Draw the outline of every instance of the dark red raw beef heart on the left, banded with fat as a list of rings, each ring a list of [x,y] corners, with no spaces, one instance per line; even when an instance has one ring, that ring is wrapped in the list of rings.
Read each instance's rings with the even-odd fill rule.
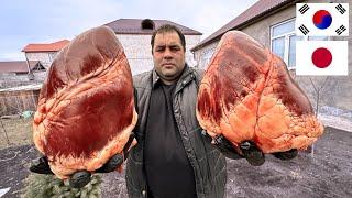
[[[113,31],[84,32],[61,51],[34,116],[34,143],[59,178],[121,153],[136,122],[132,75]]]

